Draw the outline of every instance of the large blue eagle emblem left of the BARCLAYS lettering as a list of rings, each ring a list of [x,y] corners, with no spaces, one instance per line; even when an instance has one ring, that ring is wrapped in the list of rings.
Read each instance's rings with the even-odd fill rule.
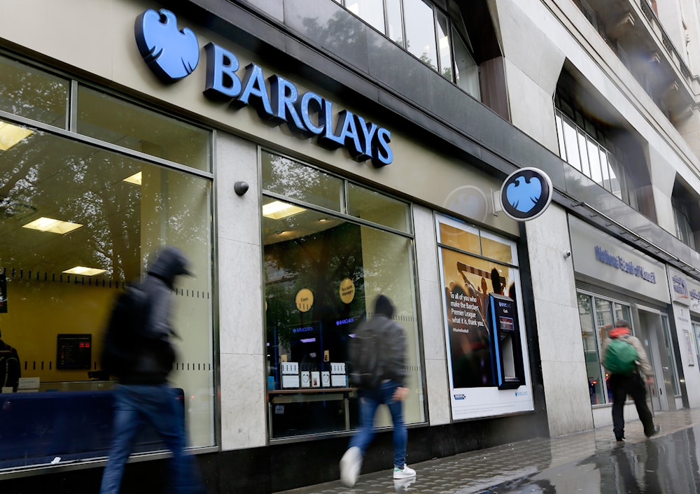
[[[153,73],[165,83],[174,83],[192,73],[200,61],[200,43],[186,27],[177,28],[177,17],[169,10],[146,10],[136,20],[136,43]]]

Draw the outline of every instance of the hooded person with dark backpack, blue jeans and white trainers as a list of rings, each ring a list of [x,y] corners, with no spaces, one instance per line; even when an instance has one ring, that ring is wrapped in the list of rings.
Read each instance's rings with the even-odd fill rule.
[[[406,335],[403,328],[395,323],[394,307],[388,297],[379,295],[374,302],[374,317],[356,331],[350,344],[351,377],[358,386],[360,404],[360,430],[350,440],[350,447],[340,460],[340,480],[347,487],[357,481],[362,459],[374,437],[374,414],[380,404],[386,404],[393,422],[393,478],[410,479],[416,471],[406,465],[406,445],[408,433],[403,421],[402,401],[408,395],[406,378]],[[370,342],[367,348],[362,342]],[[375,358],[366,359],[368,353]],[[374,367],[373,369],[361,367]],[[360,367],[360,368],[358,368]],[[371,377],[370,377],[371,376]],[[372,379],[372,377],[374,379]]]

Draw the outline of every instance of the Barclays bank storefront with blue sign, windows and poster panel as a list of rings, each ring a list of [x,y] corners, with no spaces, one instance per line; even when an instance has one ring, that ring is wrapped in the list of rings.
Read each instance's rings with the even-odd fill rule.
[[[0,488],[99,484],[104,323],[162,244],[196,274],[174,288],[172,384],[212,492],[332,479],[358,425],[347,344],[379,294],[407,335],[410,462],[546,433],[519,223],[542,210],[511,192],[504,211],[477,149],[197,2],[38,3],[0,20],[0,330],[22,360]],[[62,28],[32,27],[40,7]],[[125,489],[160,491],[166,466],[145,433]]]

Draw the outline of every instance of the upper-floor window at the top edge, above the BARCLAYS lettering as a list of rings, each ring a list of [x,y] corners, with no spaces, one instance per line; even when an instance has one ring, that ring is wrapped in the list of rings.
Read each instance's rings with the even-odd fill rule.
[[[459,8],[452,16],[426,0],[335,0],[444,78],[481,99],[479,67]],[[456,17],[455,17],[456,16]]]

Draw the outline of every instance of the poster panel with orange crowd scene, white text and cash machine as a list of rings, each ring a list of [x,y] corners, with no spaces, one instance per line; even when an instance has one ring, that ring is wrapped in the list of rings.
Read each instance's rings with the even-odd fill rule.
[[[515,244],[436,216],[454,420],[533,410]]]

